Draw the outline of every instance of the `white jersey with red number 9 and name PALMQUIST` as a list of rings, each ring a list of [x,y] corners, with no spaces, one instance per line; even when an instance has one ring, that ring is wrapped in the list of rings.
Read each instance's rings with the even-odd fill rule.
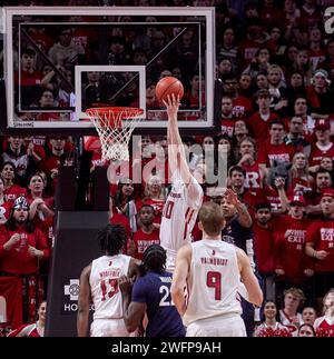
[[[185,326],[217,316],[239,316],[240,272],[235,246],[210,239],[190,246],[193,256]]]

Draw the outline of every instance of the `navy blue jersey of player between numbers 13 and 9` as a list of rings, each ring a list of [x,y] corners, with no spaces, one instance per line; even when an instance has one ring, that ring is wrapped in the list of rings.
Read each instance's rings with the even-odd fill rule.
[[[171,303],[171,273],[148,272],[136,280],[131,301],[146,303],[147,337],[185,337],[181,318]]]

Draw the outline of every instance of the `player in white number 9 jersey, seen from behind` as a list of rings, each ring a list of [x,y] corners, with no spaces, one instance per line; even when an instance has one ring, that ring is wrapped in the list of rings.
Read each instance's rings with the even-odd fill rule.
[[[261,306],[263,301],[247,255],[222,241],[224,226],[222,208],[214,202],[204,203],[198,223],[203,240],[184,246],[177,253],[171,299],[183,316],[187,337],[246,337],[238,298],[242,283],[249,302]]]

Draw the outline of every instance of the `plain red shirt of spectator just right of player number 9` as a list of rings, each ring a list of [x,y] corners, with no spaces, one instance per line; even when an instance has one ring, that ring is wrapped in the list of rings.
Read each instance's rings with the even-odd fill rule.
[[[264,228],[255,221],[253,223],[254,251],[257,268],[261,273],[274,272],[274,237],[272,225]]]

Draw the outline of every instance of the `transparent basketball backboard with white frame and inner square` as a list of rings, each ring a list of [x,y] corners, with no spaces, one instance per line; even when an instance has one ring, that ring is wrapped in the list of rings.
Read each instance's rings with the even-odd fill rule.
[[[185,87],[180,129],[215,129],[214,8],[3,9],[2,131],[92,134],[87,107],[126,106],[145,110],[137,132],[163,133],[164,76]]]

